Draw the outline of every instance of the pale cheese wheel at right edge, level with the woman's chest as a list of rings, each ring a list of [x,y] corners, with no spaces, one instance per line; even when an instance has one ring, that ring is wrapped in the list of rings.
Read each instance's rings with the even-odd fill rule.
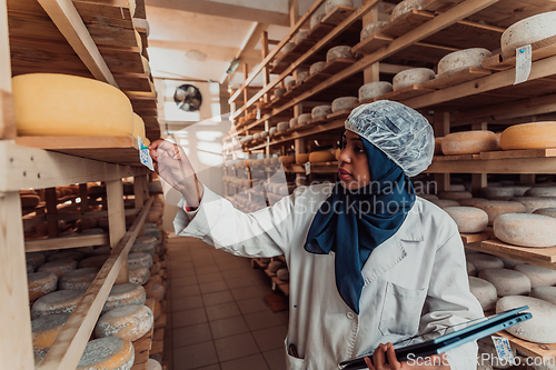
[[[499,240],[519,247],[556,246],[556,219],[543,214],[506,213],[494,221]]]

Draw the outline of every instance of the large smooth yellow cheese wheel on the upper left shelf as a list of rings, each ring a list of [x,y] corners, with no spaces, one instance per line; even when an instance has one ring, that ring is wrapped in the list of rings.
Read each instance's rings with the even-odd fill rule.
[[[40,91],[40,99],[36,99]],[[19,136],[130,136],[131,102],[118,88],[93,79],[19,74],[12,79]]]

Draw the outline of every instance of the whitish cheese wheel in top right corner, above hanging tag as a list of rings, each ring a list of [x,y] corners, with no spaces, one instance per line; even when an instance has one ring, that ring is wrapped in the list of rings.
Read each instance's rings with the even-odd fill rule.
[[[522,19],[504,31],[500,39],[504,58],[516,56],[516,49],[556,36],[556,11]]]

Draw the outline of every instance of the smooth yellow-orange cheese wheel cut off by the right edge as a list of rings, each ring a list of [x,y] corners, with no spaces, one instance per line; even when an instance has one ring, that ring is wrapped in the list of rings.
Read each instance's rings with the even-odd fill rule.
[[[556,122],[522,123],[502,133],[504,150],[556,148]]]

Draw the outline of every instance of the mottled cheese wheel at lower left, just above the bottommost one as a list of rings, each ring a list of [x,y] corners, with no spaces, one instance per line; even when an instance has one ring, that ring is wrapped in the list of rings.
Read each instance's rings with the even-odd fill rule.
[[[145,336],[152,328],[152,311],[145,304],[118,307],[99,318],[95,326],[95,336],[135,341]]]

